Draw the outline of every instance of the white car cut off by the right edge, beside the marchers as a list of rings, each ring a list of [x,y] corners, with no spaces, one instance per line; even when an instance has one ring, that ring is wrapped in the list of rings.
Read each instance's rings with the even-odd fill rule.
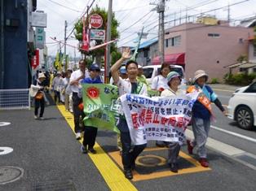
[[[253,129],[256,125],[256,81],[236,89],[227,106],[229,119],[236,120],[239,127]]]

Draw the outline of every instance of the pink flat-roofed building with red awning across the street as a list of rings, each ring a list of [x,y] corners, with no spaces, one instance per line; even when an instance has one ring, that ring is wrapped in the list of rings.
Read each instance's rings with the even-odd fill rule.
[[[227,24],[181,24],[166,29],[165,60],[167,63],[179,60],[178,64],[185,68],[187,80],[196,70],[202,69],[210,79],[222,81],[229,72],[224,67],[237,63],[236,59],[241,54],[248,53],[248,38],[253,34],[253,28],[230,27]],[[152,59],[152,64],[157,63],[157,58]]]

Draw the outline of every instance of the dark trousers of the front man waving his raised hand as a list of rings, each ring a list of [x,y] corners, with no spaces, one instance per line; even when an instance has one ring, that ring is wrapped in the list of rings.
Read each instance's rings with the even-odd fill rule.
[[[139,154],[145,149],[147,144],[135,145],[131,150],[130,132],[120,132],[122,154],[121,162],[124,166],[124,170],[130,170],[132,166],[135,166],[135,160]]]

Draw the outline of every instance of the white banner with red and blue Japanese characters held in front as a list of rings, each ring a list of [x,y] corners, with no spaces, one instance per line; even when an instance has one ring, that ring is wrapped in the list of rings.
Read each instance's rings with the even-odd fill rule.
[[[137,94],[122,95],[121,106],[133,144],[141,145],[148,140],[182,143],[197,96],[196,92],[184,96],[152,98]],[[141,133],[143,135],[139,135]]]

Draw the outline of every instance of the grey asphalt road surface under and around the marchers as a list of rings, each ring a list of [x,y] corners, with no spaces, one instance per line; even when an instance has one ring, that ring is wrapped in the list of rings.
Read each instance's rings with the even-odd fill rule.
[[[222,95],[228,96],[226,93],[218,93],[219,98]],[[221,98],[223,104],[226,102],[224,99],[225,97]],[[236,127],[219,111],[215,111],[215,114],[218,120],[213,124],[214,126],[255,138],[256,132],[248,132]],[[214,150],[209,150],[210,169],[207,171],[196,167],[189,160],[189,158],[197,159],[196,154],[188,158],[182,156],[179,158],[178,174],[171,174],[166,164],[157,167],[138,165],[136,171],[139,176],[146,175],[151,178],[132,180],[130,184],[135,189],[123,189],[124,183],[121,179],[109,180],[114,171],[111,169],[105,173],[99,171],[99,163],[105,167],[111,166],[110,163],[101,160],[103,153],[99,152],[93,157],[81,153],[81,143],[75,140],[72,129],[56,106],[46,107],[45,118],[46,120],[43,121],[33,119],[33,110],[0,111],[0,122],[11,122],[10,125],[0,126],[0,181],[2,167],[24,169],[24,175],[19,180],[8,184],[0,183],[1,191],[57,190],[56,188],[101,191],[110,190],[111,184],[116,186],[113,190],[255,190],[256,171],[253,168]],[[250,141],[213,128],[210,131],[210,137],[256,154],[255,144]],[[97,142],[109,158],[111,153],[117,151],[114,132],[99,130]],[[148,147],[153,146],[154,141],[150,141]],[[2,154],[1,147],[11,147],[13,151]],[[99,147],[95,149],[99,151]],[[183,145],[182,151],[188,154],[186,145]],[[142,157],[148,154],[166,158],[167,150],[145,150]],[[118,158],[120,156],[111,158],[111,163],[121,171],[117,163]],[[182,173],[186,170],[189,170],[188,173]],[[169,173],[168,176],[152,176],[162,171]]]

